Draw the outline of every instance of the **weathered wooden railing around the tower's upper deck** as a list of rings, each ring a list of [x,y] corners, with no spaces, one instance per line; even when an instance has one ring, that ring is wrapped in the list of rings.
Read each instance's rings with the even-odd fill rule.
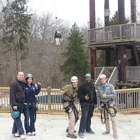
[[[88,30],[89,43],[110,43],[140,39],[140,24],[121,24]]]

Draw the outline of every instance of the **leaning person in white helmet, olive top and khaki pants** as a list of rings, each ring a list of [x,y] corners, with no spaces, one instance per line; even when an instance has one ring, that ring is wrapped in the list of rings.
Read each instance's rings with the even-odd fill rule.
[[[66,129],[66,132],[68,132],[67,137],[74,139],[77,138],[77,136],[74,134],[74,132],[76,132],[74,130],[74,127],[79,119],[78,111],[75,106],[75,101],[77,100],[78,97],[77,86],[78,86],[78,78],[76,76],[72,76],[71,84],[66,85],[60,91],[60,94],[63,94],[63,106],[69,118],[69,126]]]

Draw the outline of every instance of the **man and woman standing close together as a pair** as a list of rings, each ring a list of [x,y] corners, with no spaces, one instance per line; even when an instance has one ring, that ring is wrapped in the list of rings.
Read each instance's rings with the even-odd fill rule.
[[[17,78],[10,85],[11,114],[14,119],[12,134],[15,137],[25,139],[24,129],[21,121],[21,113],[24,114],[24,128],[26,134],[35,136],[36,120],[36,97],[41,90],[41,84],[33,84],[33,75],[18,72]]]

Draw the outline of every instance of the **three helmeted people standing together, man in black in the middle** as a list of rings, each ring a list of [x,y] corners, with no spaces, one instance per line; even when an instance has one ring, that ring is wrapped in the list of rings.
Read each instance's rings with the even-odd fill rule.
[[[93,116],[94,109],[98,106],[98,109],[103,115],[103,123],[105,123],[106,126],[106,131],[103,132],[102,135],[110,134],[110,115],[113,137],[114,139],[118,139],[115,120],[115,90],[112,84],[107,83],[105,74],[100,75],[100,82],[101,85],[98,86],[97,95],[90,73],[85,75],[85,81],[79,87],[78,78],[73,76],[71,77],[71,84],[66,85],[61,89],[60,94],[63,94],[63,107],[69,118],[69,126],[66,129],[66,132],[68,133],[67,137],[74,139],[77,138],[74,134],[76,132],[74,127],[79,117],[75,102],[79,99],[81,106],[81,120],[78,131],[79,137],[84,138],[84,133],[95,134],[95,132],[91,129],[91,118]]]

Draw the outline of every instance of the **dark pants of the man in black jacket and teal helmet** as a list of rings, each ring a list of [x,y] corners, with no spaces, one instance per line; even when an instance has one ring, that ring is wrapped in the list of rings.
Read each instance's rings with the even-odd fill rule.
[[[82,117],[80,120],[79,133],[91,131],[91,118],[93,116],[94,106],[87,103],[80,103],[82,109]]]

